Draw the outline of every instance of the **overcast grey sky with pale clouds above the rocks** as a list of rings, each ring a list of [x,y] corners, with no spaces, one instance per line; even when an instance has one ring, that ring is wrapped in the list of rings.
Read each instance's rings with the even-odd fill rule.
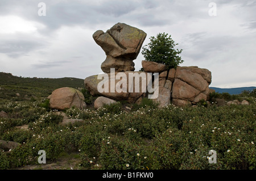
[[[39,2],[46,16],[39,16]],[[217,16],[210,16],[216,3]],[[39,11],[42,12],[42,11]],[[97,30],[126,23],[159,32],[183,49],[180,66],[212,72],[210,86],[256,86],[256,1],[0,1],[0,71],[22,77],[86,78],[101,73],[104,50],[93,40]],[[141,52],[135,70],[144,60]]]

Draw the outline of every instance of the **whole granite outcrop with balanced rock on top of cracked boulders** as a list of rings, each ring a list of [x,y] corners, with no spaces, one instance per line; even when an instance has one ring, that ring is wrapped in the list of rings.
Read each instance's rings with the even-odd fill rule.
[[[93,34],[93,39],[106,53],[106,60],[101,64],[101,69],[106,74],[85,78],[85,87],[91,95],[100,95],[113,100],[127,100],[129,103],[140,103],[142,98],[152,95],[149,90],[154,90],[158,91],[158,94],[150,98],[159,103],[159,107],[167,106],[171,102],[176,106],[184,106],[197,104],[201,99],[209,99],[209,94],[213,91],[209,89],[212,74],[207,69],[197,66],[178,66],[176,69],[167,70],[167,65],[142,61],[144,71],[134,71],[133,60],[138,56],[145,38],[146,33],[142,30],[124,23],[117,23],[106,32],[98,30]],[[113,70],[111,68],[115,70],[114,73],[111,73]],[[122,75],[119,74],[121,71]],[[141,77],[139,81],[134,81],[136,76],[129,79],[131,73],[137,74],[137,78]],[[150,79],[147,75],[152,73],[154,73],[154,77]],[[158,83],[156,82],[157,76]],[[98,77],[100,78],[98,79]],[[151,82],[152,80],[155,82]],[[148,90],[149,82],[152,83],[152,87]],[[119,87],[119,91],[117,87]],[[139,87],[139,89],[136,91],[135,87]],[[100,102],[101,99],[99,98],[94,103],[96,108],[104,104]]]

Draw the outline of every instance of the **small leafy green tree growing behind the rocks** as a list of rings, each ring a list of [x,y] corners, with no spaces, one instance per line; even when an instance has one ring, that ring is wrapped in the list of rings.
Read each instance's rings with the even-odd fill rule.
[[[168,33],[158,33],[156,37],[150,37],[150,43],[142,47],[142,54],[147,61],[154,61],[168,66],[168,69],[176,68],[183,62],[179,54],[182,49],[175,49],[174,40]]]

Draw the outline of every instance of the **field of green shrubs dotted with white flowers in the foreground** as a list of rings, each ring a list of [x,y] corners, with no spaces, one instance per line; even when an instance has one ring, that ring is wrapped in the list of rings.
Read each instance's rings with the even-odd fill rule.
[[[4,150],[0,169],[39,164],[63,153],[79,154],[79,169],[256,169],[256,104],[126,110],[121,103],[98,110],[65,111],[76,123],[60,124],[63,116],[42,101],[5,102],[0,111],[0,140],[20,145]],[[28,125],[27,129],[19,126]],[[209,150],[217,163],[209,163]]]

